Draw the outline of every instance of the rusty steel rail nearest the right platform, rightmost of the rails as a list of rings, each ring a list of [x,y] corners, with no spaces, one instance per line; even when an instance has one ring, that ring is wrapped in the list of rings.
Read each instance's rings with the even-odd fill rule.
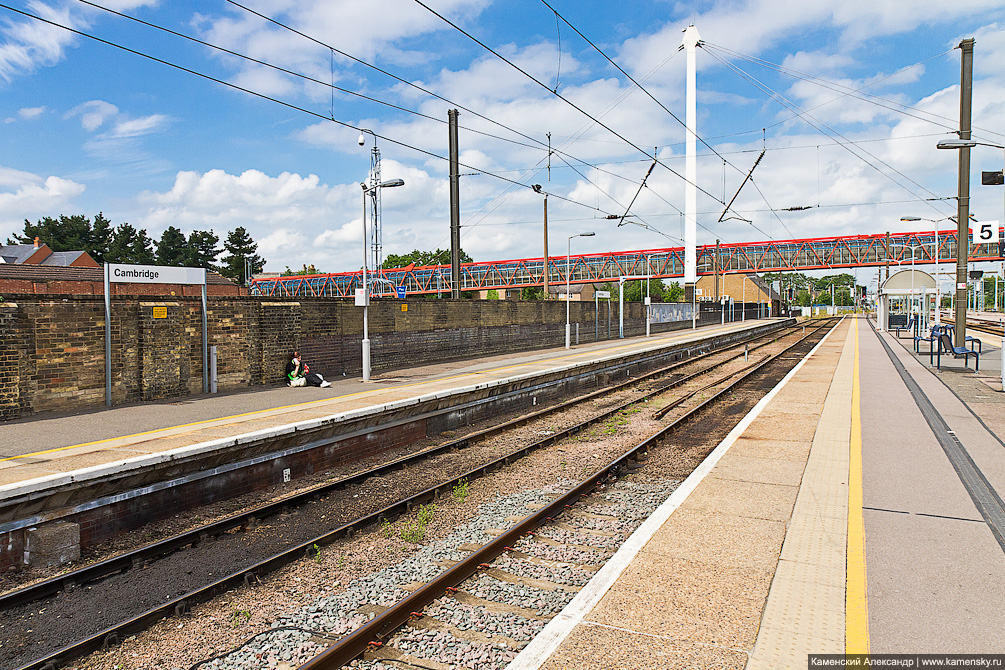
[[[830,322],[828,325],[833,327],[834,323]],[[616,475],[617,471],[623,465],[626,465],[627,461],[638,460],[640,457],[647,454],[650,446],[656,445],[674,430],[694,419],[701,412],[701,410],[709,407],[724,394],[733,391],[737,386],[750,379],[751,376],[765,367],[768,363],[781,358],[792,349],[801,345],[807,339],[812,338],[822,327],[827,326],[824,325],[820,328],[815,328],[812,332],[800,338],[795,344],[785,348],[782,352],[779,352],[771,357],[766,357],[765,360],[760,363],[749,367],[746,371],[744,371],[743,375],[739,379],[716,392],[708,399],[701,401],[701,403],[691,408],[669,425],[661,428],[659,431],[649,436],[638,445],[624,452],[621,456],[594,472],[590,475],[590,477],[581,481],[568,492],[559,496],[538,511],[525,517],[512,528],[497,535],[494,539],[486,542],[480,549],[472,551],[470,555],[463,561],[458,562],[453,567],[444,571],[430,582],[412,592],[403,600],[399,601],[395,605],[392,605],[387,610],[377,615],[369,623],[358,628],[353,633],[349,634],[318,656],[301,665],[299,670],[337,670],[365,652],[371,643],[383,642],[388,639],[394,631],[409,621],[409,619],[413,616],[413,613],[421,611],[437,598],[440,598],[444,593],[448,593],[446,591],[447,588],[455,588],[457,585],[461,584],[464,580],[475,574],[481,566],[486,565],[488,562],[506,551],[529,531],[544,524],[550,518],[558,516],[566,509],[567,506],[589,494],[594,488],[610,478],[612,474]]]

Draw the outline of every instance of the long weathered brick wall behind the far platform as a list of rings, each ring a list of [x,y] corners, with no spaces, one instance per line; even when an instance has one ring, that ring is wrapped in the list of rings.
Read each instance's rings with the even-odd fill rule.
[[[407,310],[402,307],[407,306]],[[718,305],[702,322],[718,322]],[[155,308],[166,310],[155,318]],[[375,372],[531,349],[562,347],[560,301],[374,300],[369,309]],[[161,309],[158,309],[161,311]],[[713,313],[714,312],[714,313]],[[361,371],[363,310],[332,299],[210,296],[209,345],[220,390],[275,385],[298,349],[327,377]],[[600,309],[607,336],[606,306]],[[580,342],[594,339],[594,303],[573,302]],[[688,322],[653,324],[653,331]],[[617,337],[617,307],[612,336]],[[625,305],[625,334],[645,331],[640,303]],[[202,312],[195,296],[153,301],[116,296],[112,399],[121,404],[202,392]],[[0,419],[72,411],[105,402],[105,303],[99,295],[21,295],[0,303]]]

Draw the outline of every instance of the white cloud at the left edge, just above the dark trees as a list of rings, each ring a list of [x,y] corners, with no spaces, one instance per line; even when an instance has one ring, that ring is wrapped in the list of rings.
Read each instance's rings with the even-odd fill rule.
[[[0,236],[21,230],[24,219],[55,216],[83,193],[83,184],[0,167]]]

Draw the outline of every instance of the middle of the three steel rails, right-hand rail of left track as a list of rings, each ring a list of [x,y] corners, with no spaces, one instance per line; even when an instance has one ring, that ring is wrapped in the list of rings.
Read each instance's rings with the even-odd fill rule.
[[[804,342],[807,338],[812,337],[812,334],[814,334],[815,332],[817,332],[822,327],[826,327],[826,326],[825,325],[821,325],[820,327],[814,329],[810,334],[804,336],[803,338],[801,338],[800,340],[798,340],[796,343],[794,343],[790,347],[788,347],[785,350],[783,350],[782,352],[780,352],[774,358],[778,358],[779,356],[783,355],[785,352],[788,352],[791,349],[793,349],[794,347],[797,347],[800,343]],[[773,334],[773,333],[769,333],[769,334]],[[776,334],[775,339],[777,340],[777,334]],[[770,343],[766,343],[764,345],[760,345],[759,347],[767,346],[767,344],[770,344]],[[725,350],[718,350],[717,352],[709,352],[706,355],[701,355],[701,356],[705,357],[705,356],[708,356],[708,355],[711,355],[711,354],[714,354],[714,353],[723,353],[724,351],[729,351],[729,349],[732,349],[732,348],[726,348]],[[761,363],[761,366],[767,364],[771,360],[774,360],[774,358],[772,358],[772,359],[765,359]],[[696,359],[697,359],[697,357],[695,357],[693,359],[690,359],[688,361],[678,362],[677,364],[674,364],[673,366],[670,366],[669,368],[675,368],[675,367],[679,367],[679,365],[683,365],[683,364],[686,364],[686,363],[692,363]],[[711,371],[713,369],[715,369],[715,367],[710,367],[710,368],[707,369],[707,371]],[[751,374],[753,374],[754,372],[755,372],[754,370],[749,371],[748,372],[748,376],[751,375]],[[664,374],[665,374],[665,372],[664,372]],[[647,374],[645,377],[651,377],[651,376],[652,376],[652,374],[650,373],[650,374]],[[637,384],[640,380],[642,380],[642,376],[640,376],[636,380],[633,380],[632,383],[636,383]],[[627,385],[627,383],[623,384],[622,387],[619,387],[619,388],[623,388],[625,385]],[[94,651],[97,651],[99,649],[106,649],[106,648],[108,648],[108,647],[110,647],[110,646],[112,646],[114,644],[117,644],[119,641],[121,641],[125,637],[128,637],[129,635],[132,635],[132,634],[135,634],[135,633],[139,633],[139,632],[141,632],[141,631],[149,628],[151,625],[157,623],[158,621],[160,621],[161,619],[164,619],[167,616],[170,616],[171,614],[175,614],[175,615],[178,615],[178,616],[183,615],[185,612],[188,611],[188,609],[192,605],[205,602],[205,601],[213,598],[217,594],[224,593],[226,591],[229,591],[229,590],[231,590],[231,589],[233,589],[235,587],[241,586],[241,585],[251,585],[251,584],[254,584],[255,582],[259,581],[259,579],[260,579],[261,576],[263,576],[263,575],[265,575],[267,573],[271,573],[271,572],[273,572],[275,570],[278,570],[279,568],[282,568],[282,567],[284,567],[284,566],[292,563],[293,561],[296,561],[297,559],[300,559],[300,557],[304,557],[304,556],[314,555],[315,552],[317,551],[317,548],[316,548],[317,546],[327,546],[328,544],[331,544],[332,542],[336,541],[337,539],[339,539],[339,538],[341,538],[343,536],[350,536],[350,535],[352,535],[354,532],[356,532],[357,530],[359,530],[361,528],[364,528],[364,527],[369,526],[371,524],[380,523],[384,519],[396,518],[396,517],[398,517],[399,515],[403,514],[403,513],[411,511],[411,509],[413,507],[415,507],[416,505],[418,505],[418,504],[422,504],[422,503],[428,502],[430,500],[436,499],[440,495],[441,491],[443,491],[443,490],[447,490],[447,491],[451,490],[452,487],[455,486],[455,485],[457,485],[458,483],[460,483],[461,480],[470,481],[472,479],[477,479],[477,478],[480,478],[482,476],[485,476],[489,472],[491,472],[491,471],[493,471],[495,469],[498,469],[499,467],[509,465],[513,461],[519,460],[523,456],[526,456],[527,454],[529,454],[529,453],[531,453],[531,452],[533,452],[533,451],[535,451],[537,449],[540,449],[542,447],[545,447],[545,446],[548,446],[548,445],[553,444],[555,442],[558,442],[559,440],[565,439],[566,437],[570,437],[572,435],[575,435],[576,433],[582,431],[583,429],[588,428],[589,426],[591,426],[591,425],[593,425],[595,423],[603,421],[603,420],[607,419],[608,417],[610,417],[610,416],[612,416],[614,414],[617,414],[618,412],[621,412],[621,411],[623,411],[624,409],[626,409],[628,407],[631,407],[632,405],[638,404],[639,402],[644,402],[646,399],[648,399],[650,397],[653,397],[653,396],[665,393],[666,391],[669,390],[669,388],[672,388],[672,387],[660,388],[660,389],[655,390],[655,391],[653,391],[653,392],[651,392],[649,394],[646,394],[645,396],[642,396],[640,398],[634,398],[634,399],[632,399],[632,400],[630,400],[630,401],[628,401],[626,403],[623,403],[623,404],[620,404],[620,405],[614,407],[613,409],[606,410],[606,411],[602,412],[599,415],[591,417],[591,418],[587,419],[584,422],[581,422],[581,423],[576,424],[574,426],[570,426],[570,427],[568,427],[566,429],[563,429],[561,431],[557,431],[557,432],[553,433],[552,435],[548,435],[546,437],[543,437],[540,440],[536,440],[535,442],[533,442],[531,444],[528,444],[528,445],[525,445],[525,446],[523,446],[523,447],[521,447],[519,449],[516,449],[516,450],[514,450],[514,451],[512,451],[512,452],[510,452],[508,454],[505,454],[505,455],[500,456],[499,458],[496,458],[495,460],[492,460],[492,461],[490,461],[488,463],[484,463],[482,465],[479,465],[479,466],[477,466],[477,467],[475,467],[475,468],[473,468],[473,469],[471,469],[471,470],[469,470],[469,471],[467,471],[467,472],[465,472],[463,474],[460,474],[460,475],[458,475],[456,477],[453,477],[453,478],[451,478],[449,480],[441,481],[440,483],[438,483],[438,484],[436,484],[434,486],[430,486],[429,488],[426,488],[426,489],[424,489],[422,491],[419,491],[419,492],[417,492],[417,493],[415,493],[415,494],[413,494],[411,496],[408,496],[406,498],[402,498],[401,500],[398,500],[397,502],[394,502],[394,503],[392,503],[392,504],[384,507],[383,509],[379,509],[379,510],[374,511],[374,512],[372,512],[370,514],[367,514],[366,516],[354,519],[353,521],[345,523],[345,524],[339,526],[338,528],[335,528],[335,529],[333,529],[333,530],[331,530],[331,531],[329,531],[327,533],[324,533],[324,534],[319,535],[317,537],[308,539],[305,542],[301,542],[301,543],[299,543],[299,544],[297,544],[295,546],[292,546],[292,547],[290,547],[288,549],[280,551],[280,552],[278,552],[278,553],[276,553],[276,554],[274,554],[274,555],[272,555],[272,556],[270,556],[268,559],[265,559],[265,560],[263,560],[263,561],[261,561],[261,562],[259,562],[257,564],[254,564],[252,566],[244,568],[244,569],[242,569],[240,571],[236,571],[236,572],[234,572],[234,573],[232,573],[232,574],[230,574],[230,575],[228,575],[226,577],[221,578],[220,580],[217,580],[216,582],[213,582],[212,584],[209,584],[209,585],[207,585],[205,587],[202,587],[200,589],[191,591],[191,592],[189,592],[187,594],[184,594],[184,595],[182,595],[182,596],[180,596],[178,598],[175,598],[175,599],[173,599],[171,601],[168,601],[168,602],[166,602],[166,603],[164,603],[164,604],[162,604],[160,606],[157,606],[155,608],[151,608],[150,610],[148,610],[148,611],[146,611],[146,612],[144,612],[144,613],[142,613],[140,615],[137,615],[136,617],[134,617],[132,619],[129,619],[129,620],[127,620],[125,622],[121,622],[119,624],[111,626],[111,627],[109,627],[109,628],[107,628],[107,629],[105,629],[103,631],[94,633],[93,635],[91,635],[91,636],[89,636],[89,637],[87,637],[87,638],[85,638],[83,640],[79,640],[77,642],[74,642],[74,643],[71,643],[69,645],[66,645],[65,647],[63,647],[61,649],[58,649],[55,652],[52,652],[51,654],[49,654],[49,655],[47,655],[47,656],[45,656],[43,658],[36,659],[34,661],[31,661],[30,663],[27,663],[27,664],[21,666],[18,670],[55,670],[56,668],[60,667],[61,665],[66,664],[66,663],[68,663],[68,662],[70,662],[72,660],[75,660],[77,658],[80,658],[81,656],[85,656],[85,655],[90,654],[90,653],[92,653]],[[589,395],[593,396],[593,395],[596,395],[597,393],[599,393],[599,392],[594,392],[594,393],[589,394]],[[703,401],[699,407],[703,407],[711,400],[713,400],[715,398],[718,398],[720,395],[721,395],[721,393],[715,394],[714,396],[710,397],[710,399],[708,399],[707,401]],[[680,419],[677,419],[671,425],[677,425],[677,424],[679,424],[686,416],[687,415],[684,415]],[[469,438],[470,438],[470,436],[467,436],[466,438],[462,438],[462,439],[469,439]],[[637,448],[636,448],[636,450],[637,450]],[[420,453],[428,453],[428,451],[429,450],[427,450],[426,452],[420,452]],[[633,451],[635,451],[635,450],[633,450]],[[406,458],[408,458],[408,457],[406,457]],[[399,461],[400,460],[403,460],[403,459],[399,459]],[[388,464],[388,465],[390,465],[390,464]],[[387,467],[387,466],[382,466],[382,467]],[[369,471],[369,473],[367,474],[367,476],[372,476],[372,475],[373,475],[373,471]],[[548,508],[551,508],[551,505],[549,505]],[[247,513],[243,513],[240,516],[246,517],[246,516],[248,516],[248,514]],[[375,621],[376,621],[376,619],[375,619]],[[308,666],[301,666],[301,667],[306,668]]]

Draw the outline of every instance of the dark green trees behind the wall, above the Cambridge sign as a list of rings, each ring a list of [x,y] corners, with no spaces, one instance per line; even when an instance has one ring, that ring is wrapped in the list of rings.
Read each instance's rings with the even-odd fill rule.
[[[168,226],[155,241],[143,228],[129,223],[114,226],[100,212],[92,220],[82,214],[60,214],[36,223],[25,219],[24,230],[8,237],[7,244],[31,244],[35,237],[53,251],[86,251],[103,265],[204,267],[240,283],[247,280],[245,259],[250,262],[252,274],[265,266],[265,259],[257,254],[258,244],[241,226],[230,231],[220,247],[220,238],[212,230],[193,230],[186,237],[180,229]],[[223,253],[226,255],[217,260]]]

